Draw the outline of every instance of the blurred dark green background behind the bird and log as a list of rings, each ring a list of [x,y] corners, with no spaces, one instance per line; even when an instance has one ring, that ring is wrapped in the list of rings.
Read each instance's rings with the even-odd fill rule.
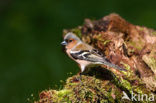
[[[0,103],[38,99],[39,92],[61,88],[60,80],[79,71],[62,52],[64,28],[116,12],[156,29],[155,5],[155,0],[0,0]]]

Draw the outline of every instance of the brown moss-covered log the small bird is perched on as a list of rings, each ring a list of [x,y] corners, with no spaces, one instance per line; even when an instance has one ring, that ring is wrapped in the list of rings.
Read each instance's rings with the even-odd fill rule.
[[[122,99],[123,91],[129,98],[132,93],[155,95],[156,31],[110,14],[100,20],[85,19],[83,26],[64,30],[63,34],[67,32],[74,32],[127,71],[94,67],[82,75],[82,83],[79,74],[69,77],[62,90],[43,91],[35,103],[135,103]]]

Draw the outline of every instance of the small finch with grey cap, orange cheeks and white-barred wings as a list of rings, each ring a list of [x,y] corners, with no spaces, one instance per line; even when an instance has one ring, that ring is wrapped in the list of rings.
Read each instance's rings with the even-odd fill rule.
[[[109,62],[97,49],[83,42],[73,32],[65,34],[61,45],[65,47],[67,55],[79,64],[81,73],[91,65],[106,65],[119,71],[126,71],[125,69]]]

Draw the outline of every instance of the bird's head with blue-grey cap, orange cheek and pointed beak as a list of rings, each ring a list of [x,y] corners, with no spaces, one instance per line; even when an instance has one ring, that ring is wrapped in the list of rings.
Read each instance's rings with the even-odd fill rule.
[[[69,32],[64,36],[64,41],[61,45],[65,46],[66,49],[71,49],[79,42],[81,42],[79,37],[77,37],[74,33]]]

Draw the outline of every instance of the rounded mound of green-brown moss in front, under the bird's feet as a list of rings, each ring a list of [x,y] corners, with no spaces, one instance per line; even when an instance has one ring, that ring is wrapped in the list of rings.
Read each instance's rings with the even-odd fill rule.
[[[81,84],[80,81],[77,80],[78,77],[79,75],[75,75],[68,78],[62,90],[49,90],[53,91],[51,94],[52,97],[43,98],[40,102],[36,103],[41,103],[43,100],[58,103],[96,103],[97,101],[100,103],[113,103],[115,99],[117,99],[116,97],[118,97],[116,94],[120,94],[116,93],[119,92],[119,90],[109,81],[103,81],[90,76],[82,76]],[[115,98],[113,98],[112,95],[115,95]]]

